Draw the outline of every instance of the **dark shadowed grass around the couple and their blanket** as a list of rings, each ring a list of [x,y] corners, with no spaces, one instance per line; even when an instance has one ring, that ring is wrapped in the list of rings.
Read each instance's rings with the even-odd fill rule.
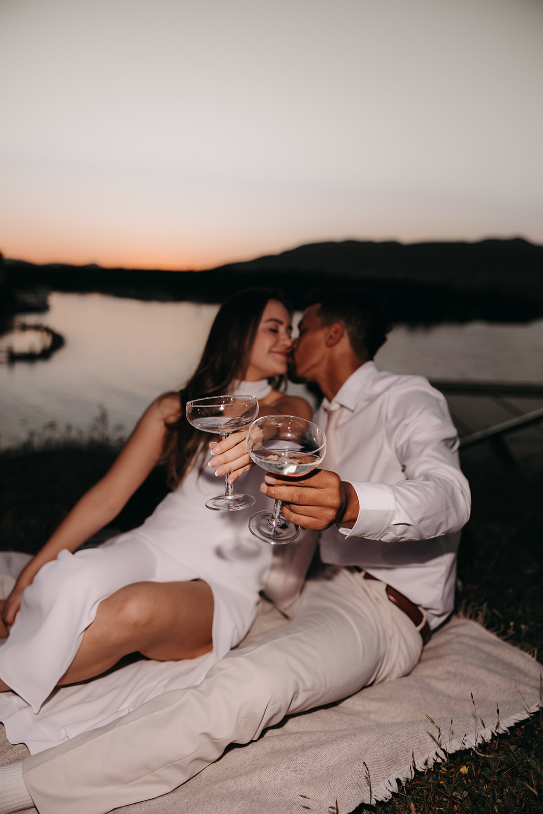
[[[114,428],[115,430],[115,428]],[[104,414],[85,437],[48,425],[19,449],[0,452],[0,549],[34,553],[85,489],[111,465],[120,444]],[[473,494],[458,559],[457,610],[511,644],[543,652],[543,466],[510,470],[489,449],[466,450],[462,466]],[[151,473],[112,526],[125,531],[151,513],[166,492]],[[543,715],[476,751],[451,755],[416,772],[387,803],[356,814],[501,814],[543,812]]]

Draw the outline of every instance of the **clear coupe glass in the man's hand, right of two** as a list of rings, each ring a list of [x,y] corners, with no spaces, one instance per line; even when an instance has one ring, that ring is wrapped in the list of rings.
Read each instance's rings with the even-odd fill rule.
[[[252,422],[247,452],[261,469],[279,475],[307,475],[326,453],[326,435],[317,424],[293,415],[267,415]],[[249,531],[270,545],[296,540],[300,527],[281,514],[281,501],[273,511],[259,511],[249,520]]]

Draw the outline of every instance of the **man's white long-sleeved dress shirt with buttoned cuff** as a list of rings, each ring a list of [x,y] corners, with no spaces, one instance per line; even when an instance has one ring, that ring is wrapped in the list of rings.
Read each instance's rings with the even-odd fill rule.
[[[436,628],[453,610],[460,529],[470,489],[444,396],[422,376],[379,372],[368,361],[313,419],[337,423],[335,471],[353,484],[353,529],[322,532],[323,562],[357,565],[426,610]]]

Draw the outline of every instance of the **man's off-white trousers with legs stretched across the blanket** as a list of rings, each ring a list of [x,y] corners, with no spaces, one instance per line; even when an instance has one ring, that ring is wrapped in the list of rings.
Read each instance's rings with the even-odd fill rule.
[[[198,686],[24,760],[40,814],[105,814],[165,794],[289,713],[404,676],[423,642],[383,583],[339,569],[310,581],[291,623],[231,650]]]

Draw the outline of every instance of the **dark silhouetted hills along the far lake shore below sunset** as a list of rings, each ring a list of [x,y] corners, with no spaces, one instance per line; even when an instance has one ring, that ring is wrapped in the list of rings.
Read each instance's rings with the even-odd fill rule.
[[[200,272],[33,265],[6,260],[4,301],[17,291],[98,291],[146,300],[221,302],[247,286],[281,288],[297,308],[309,287],[364,287],[409,325],[543,316],[543,247],[517,238],[479,243],[311,243]],[[1,286],[1,283],[0,283]]]

